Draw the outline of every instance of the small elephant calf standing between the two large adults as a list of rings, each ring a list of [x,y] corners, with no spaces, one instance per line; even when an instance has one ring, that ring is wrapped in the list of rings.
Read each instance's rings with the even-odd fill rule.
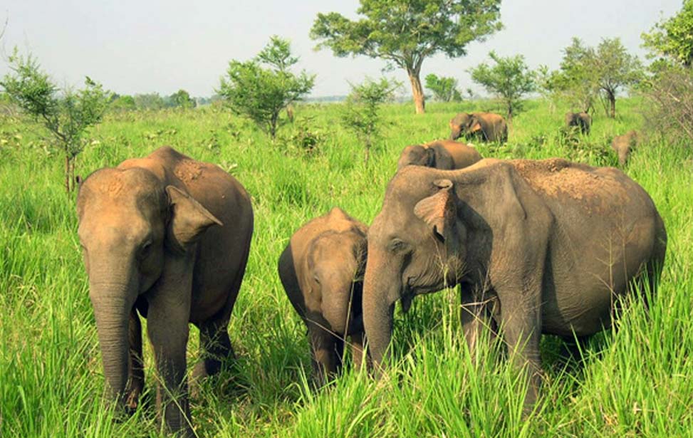
[[[361,364],[367,232],[365,224],[335,207],[298,229],[279,257],[281,283],[308,327],[318,387],[338,374],[348,335],[354,365]]]

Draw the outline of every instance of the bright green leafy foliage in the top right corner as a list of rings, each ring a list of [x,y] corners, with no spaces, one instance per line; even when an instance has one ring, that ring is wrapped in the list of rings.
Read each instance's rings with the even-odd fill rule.
[[[643,46],[650,49],[650,58],[671,60],[682,66],[693,65],[693,1],[685,0],[678,14],[663,20],[642,33]]]

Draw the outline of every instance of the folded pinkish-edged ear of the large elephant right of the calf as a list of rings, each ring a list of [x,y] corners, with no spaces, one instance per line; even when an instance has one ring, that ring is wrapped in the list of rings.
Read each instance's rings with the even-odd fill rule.
[[[446,246],[454,244],[457,222],[457,194],[449,179],[438,179],[433,184],[439,190],[417,202],[414,214],[431,226],[433,234]]]

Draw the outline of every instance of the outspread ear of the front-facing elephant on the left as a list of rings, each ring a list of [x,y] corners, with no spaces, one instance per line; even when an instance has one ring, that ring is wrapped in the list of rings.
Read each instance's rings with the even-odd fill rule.
[[[169,239],[175,247],[185,249],[214,224],[223,225],[214,214],[202,207],[189,194],[174,186],[167,186],[172,217],[168,226]]]

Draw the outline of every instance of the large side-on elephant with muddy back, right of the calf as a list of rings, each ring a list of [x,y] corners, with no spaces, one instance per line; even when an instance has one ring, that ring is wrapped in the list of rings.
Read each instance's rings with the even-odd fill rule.
[[[666,242],[650,196],[611,167],[560,159],[407,167],[388,184],[368,230],[370,357],[382,370],[396,301],[406,310],[418,294],[460,284],[469,348],[497,324],[530,379],[531,406],[541,333],[573,338],[609,327],[614,298],[630,281],[643,272],[657,280]]]

